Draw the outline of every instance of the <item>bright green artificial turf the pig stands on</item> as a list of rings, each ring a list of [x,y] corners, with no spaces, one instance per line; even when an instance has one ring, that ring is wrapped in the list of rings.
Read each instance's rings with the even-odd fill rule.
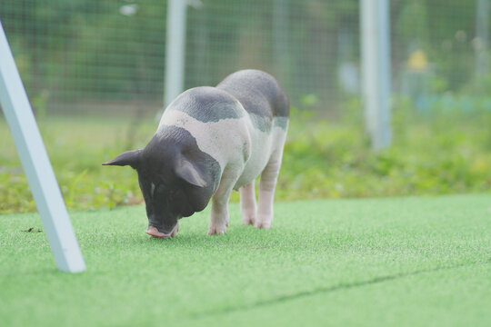
[[[71,213],[78,274],[36,214],[0,216],[0,324],[491,325],[490,194],[276,203],[269,231],[230,212],[223,236],[206,210],[170,240],[143,206]]]

